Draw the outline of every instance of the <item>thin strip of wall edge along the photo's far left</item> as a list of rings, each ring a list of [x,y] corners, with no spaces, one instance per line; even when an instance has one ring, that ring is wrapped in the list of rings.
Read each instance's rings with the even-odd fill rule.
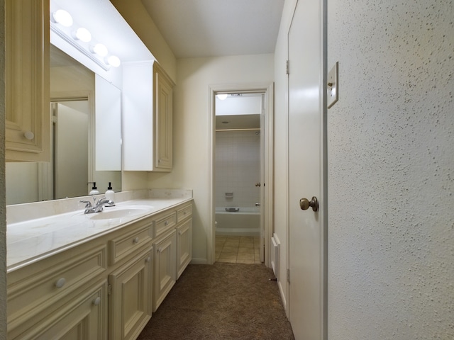
[[[0,0],[0,140],[5,140],[5,16]],[[6,339],[6,197],[5,144],[0,143],[0,340]]]

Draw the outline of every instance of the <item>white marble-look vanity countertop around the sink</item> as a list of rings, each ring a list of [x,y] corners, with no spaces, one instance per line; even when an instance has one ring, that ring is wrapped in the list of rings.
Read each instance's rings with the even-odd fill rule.
[[[115,207],[104,208],[104,212],[131,206],[141,208],[140,213],[128,217],[96,220],[92,217],[104,212],[84,214],[84,210],[77,210],[11,223],[7,225],[6,229],[7,272],[112,232],[129,222],[141,220],[190,200],[192,198],[187,197],[141,198],[123,201],[116,204]]]

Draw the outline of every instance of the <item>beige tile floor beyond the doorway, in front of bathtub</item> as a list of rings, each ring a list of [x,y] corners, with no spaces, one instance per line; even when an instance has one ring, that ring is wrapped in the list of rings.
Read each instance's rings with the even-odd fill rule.
[[[259,237],[216,235],[216,261],[218,262],[261,263],[259,249]]]

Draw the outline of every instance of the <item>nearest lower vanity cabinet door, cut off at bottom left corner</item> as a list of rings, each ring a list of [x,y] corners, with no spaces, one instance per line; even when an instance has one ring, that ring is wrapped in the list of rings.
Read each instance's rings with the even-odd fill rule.
[[[26,325],[31,327],[18,336],[9,334],[9,339],[107,339],[106,280],[62,304],[43,321]]]

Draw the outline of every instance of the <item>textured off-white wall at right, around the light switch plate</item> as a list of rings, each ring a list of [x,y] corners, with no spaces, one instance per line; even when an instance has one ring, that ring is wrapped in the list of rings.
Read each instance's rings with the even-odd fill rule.
[[[454,339],[453,8],[328,1],[330,340]]]

